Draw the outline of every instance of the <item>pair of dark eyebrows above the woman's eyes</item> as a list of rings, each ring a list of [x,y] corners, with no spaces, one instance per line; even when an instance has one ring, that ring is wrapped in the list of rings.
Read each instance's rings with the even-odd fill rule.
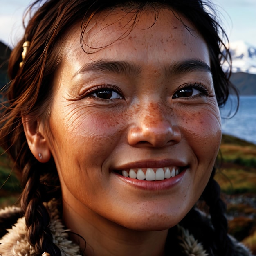
[[[85,72],[107,72],[115,74],[124,74],[128,76],[137,76],[141,73],[141,67],[132,63],[131,61],[108,61],[99,60],[88,63],[81,67],[74,75],[85,73]],[[204,61],[198,59],[187,59],[164,66],[164,72],[166,76],[180,75],[190,73],[193,71],[210,72],[211,68]]]

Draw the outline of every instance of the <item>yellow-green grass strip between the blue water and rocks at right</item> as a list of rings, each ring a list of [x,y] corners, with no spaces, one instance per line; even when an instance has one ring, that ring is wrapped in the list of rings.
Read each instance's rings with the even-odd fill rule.
[[[256,145],[223,135],[216,180],[226,194],[256,194]]]

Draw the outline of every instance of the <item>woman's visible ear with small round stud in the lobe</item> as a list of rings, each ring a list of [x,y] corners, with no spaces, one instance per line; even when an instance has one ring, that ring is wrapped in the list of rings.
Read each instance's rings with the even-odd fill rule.
[[[51,158],[51,151],[47,144],[47,138],[43,129],[43,125],[30,115],[22,117],[22,124],[29,148],[41,163],[46,163]]]

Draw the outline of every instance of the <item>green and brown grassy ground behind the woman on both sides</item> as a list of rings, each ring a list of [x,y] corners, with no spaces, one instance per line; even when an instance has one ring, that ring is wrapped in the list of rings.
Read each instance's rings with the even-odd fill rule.
[[[227,203],[229,233],[256,254],[256,145],[223,135],[216,173]],[[18,201],[19,182],[6,155],[0,156],[0,206]],[[11,173],[11,175],[10,175]]]

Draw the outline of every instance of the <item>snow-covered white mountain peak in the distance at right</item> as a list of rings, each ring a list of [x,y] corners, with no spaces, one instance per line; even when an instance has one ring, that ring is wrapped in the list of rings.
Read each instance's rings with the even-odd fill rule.
[[[256,74],[256,46],[244,41],[229,44],[232,57],[232,72]]]

